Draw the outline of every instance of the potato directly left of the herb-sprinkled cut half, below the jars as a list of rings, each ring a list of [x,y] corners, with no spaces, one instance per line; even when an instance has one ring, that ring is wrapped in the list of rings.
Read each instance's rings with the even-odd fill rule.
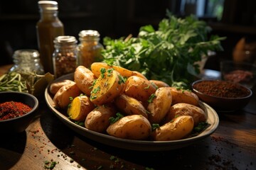
[[[90,71],[90,69],[87,69],[84,66],[78,66],[75,69],[74,81],[79,89],[87,96],[90,96],[90,92],[92,91],[92,84],[95,79],[96,77]]]

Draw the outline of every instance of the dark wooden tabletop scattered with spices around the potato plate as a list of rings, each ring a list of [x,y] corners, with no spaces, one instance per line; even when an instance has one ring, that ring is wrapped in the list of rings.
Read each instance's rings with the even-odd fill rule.
[[[217,130],[200,142],[138,152],[102,145],[70,130],[41,98],[25,132],[1,135],[0,169],[48,169],[46,162],[56,162],[53,169],[256,169],[256,96],[244,110],[218,115]]]

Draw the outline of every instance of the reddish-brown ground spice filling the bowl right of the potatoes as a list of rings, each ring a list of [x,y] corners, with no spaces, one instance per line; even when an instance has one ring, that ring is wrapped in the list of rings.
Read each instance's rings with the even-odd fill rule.
[[[193,88],[203,94],[224,98],[240,98],[250,94],[250,91],[229,81],[200,81]]]

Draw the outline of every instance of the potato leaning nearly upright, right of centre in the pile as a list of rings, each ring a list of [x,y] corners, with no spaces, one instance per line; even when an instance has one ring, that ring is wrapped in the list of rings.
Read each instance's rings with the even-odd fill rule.
[[[166,87],[156,90],[153,100],[149,103],[147,110],[150,123],[160,123],[171,107],[171,92]]]

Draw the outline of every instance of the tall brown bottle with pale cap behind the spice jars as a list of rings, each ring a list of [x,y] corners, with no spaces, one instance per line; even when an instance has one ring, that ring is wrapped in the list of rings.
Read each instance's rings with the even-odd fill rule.
[[[38,1],[41,18],[36,24],[38,48],[45,72],[53,74],[53,40],[64,35],[63,23],[58,18],[58,2]]]

